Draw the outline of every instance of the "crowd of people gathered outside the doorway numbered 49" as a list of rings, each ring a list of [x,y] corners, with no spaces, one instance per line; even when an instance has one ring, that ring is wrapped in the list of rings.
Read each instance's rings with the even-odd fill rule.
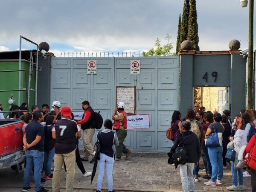
[[[255,145],[256,140],[256,111],[241,110],[240,115],[232,121],[230,111],[225,110],[223,114],[218,111],[206,111],[200,107],[199,103],[194,104],[194,110],[188,110],[183,121],[180,119],[179,111],[174,111],[172,115],[171,128],[173,133],[173,146],[169,157],[174,158],[175,150],[178,146],[184,145],[186,148],[187,163],[177,164],[180,166],[180,177],[183,192],[195,192],[194,182],[199,182],[199,159],[203,158],[204,178],[209,181],[204,182],[208,186],[223,184],[223,170],[227,165],[231,165],[232,185],[227,189],[231,191],[243,191],[243,177],[251,177],[253,192],[256,192],[256,170],[246,165],[245,155]],[[212,139],[211,134],[219,137],[218,145],[210,145],[207,139]],[[215,139],[213,139],[215,140]],[[250,142],[250,145],[247,143]],[[208,145],[208,146],[207,146]],[[227,151],[234,151],[234,159],[227,160]],[[229,151],[228,151],[229,152]],[[175,161],[170,161],[175,162]],[[243,168],[246,169],[243,172]],[[214,189],[213,189],[214,190]]]

